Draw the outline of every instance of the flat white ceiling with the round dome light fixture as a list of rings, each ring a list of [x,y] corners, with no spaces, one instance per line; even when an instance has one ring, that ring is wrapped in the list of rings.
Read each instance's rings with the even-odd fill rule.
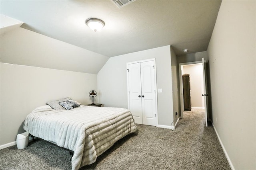
[[[0,13],[25,29],[114,57],[172,45],[176,55],[206,51],[220,0],[136,0],[117,8],[111,0],[1,0]],[[105,27],[90,30],[87,18]]]

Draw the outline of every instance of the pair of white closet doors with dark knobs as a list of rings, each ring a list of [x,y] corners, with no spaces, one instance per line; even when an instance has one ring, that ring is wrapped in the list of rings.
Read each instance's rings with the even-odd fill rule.
[[[153,60],[127,64],[128,108],[138,124],[156,126],[154,63]]]

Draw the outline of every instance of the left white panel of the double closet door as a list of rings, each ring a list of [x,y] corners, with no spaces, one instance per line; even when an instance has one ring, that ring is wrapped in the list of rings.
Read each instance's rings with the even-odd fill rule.
[[[142,124],[140,63],[128,64],[129,102],[135,123]]]

